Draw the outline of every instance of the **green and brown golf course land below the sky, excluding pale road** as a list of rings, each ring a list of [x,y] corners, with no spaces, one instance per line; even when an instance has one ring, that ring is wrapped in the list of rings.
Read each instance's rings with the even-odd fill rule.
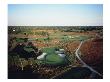
[[[81,59],[102,74],[98,68],[103,68],[102,30],[101,26],[9,26],[8,78],[65,79],[71,71],[76,75],[68,78],[91,78],[92,71],[83,68],[75,55],[81,42]]]

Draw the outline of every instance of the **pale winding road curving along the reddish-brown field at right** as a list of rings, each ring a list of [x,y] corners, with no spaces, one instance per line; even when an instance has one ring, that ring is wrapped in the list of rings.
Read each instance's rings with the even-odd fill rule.
[[[81,41],[81,43],[79,44],[78,48],[77,48],[76,51],[75,51],[76,57],[77,57],[78,60],[83,64],[84,67],[89,68],[92,72],[94,72],[94,73],[96,73],[96,74],[98,74],[99,76],[102,77],[102,75],[101,75],[99,72],[97,72],[97,71],[94,70],[92,67],[90,67],[89,65],[87,65],[87,64],[80,58],[78,52],[79,52],[79,49],[80,49],[81,45],[83,44],[83,42],[84,42],[84,41]]]

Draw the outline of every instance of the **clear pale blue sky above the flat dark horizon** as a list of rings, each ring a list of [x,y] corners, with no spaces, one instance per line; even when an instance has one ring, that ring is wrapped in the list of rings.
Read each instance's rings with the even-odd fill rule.
[[[8,26],[103,26],[103,5],[9,4]]]

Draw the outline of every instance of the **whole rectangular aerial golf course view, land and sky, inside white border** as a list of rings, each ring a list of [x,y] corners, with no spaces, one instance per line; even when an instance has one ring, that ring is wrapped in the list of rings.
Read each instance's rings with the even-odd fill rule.
[[[9,4],[8,79],[103,79],[102,4]]]

